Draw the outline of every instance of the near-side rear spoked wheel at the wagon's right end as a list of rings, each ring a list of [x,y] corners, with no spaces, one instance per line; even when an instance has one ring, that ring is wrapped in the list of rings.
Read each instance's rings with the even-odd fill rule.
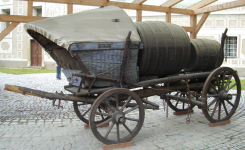
[[[228,67],[215,69],[206,79],[202,90],[202,109],[212,123],[226,121],[235,113],[241,96],[241,84],[237,73]]]

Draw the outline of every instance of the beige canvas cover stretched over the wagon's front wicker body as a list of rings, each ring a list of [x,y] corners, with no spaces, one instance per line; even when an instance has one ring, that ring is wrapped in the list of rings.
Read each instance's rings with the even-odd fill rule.
[[[28,29],[66,49],[73,43],[124,42],[129,31],[132,41],[141,41],[131,18],[115,6],[29,22]]]

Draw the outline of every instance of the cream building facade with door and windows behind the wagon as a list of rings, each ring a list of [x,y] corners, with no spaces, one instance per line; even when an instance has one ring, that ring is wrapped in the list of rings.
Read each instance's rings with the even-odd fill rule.
[[[219,4],[219,2],[212,5]],[[73,6],[73,13],[86,11],[97,7]],[[135,10],[125,10],[132,20],[136,21]],[[0,13],[9,15],[27,15],[27,2],[15,0],[0,0]],[[54,17],[67,14],[66,4],[33,3],[33,16]],[[144,12],[142,21],[165,21],[165,13]],[[197,16],[197,22],[202,15]],[[180,26],[190,26],[190,16],[172,14],[171,22]],[[10,23],[1,22],[3,31]],[[222,33],[228,28],[228,39],[225,44],[227,57],[223,66],[238,70],[240,76],[245,76],[245,7],[213,12],[205,21],[197,34],[197,38],[208,38],[220,42]],[[9,35],[0,41],[0,67],[55,68],[52,58],[27,34],[24,23],[20,23]],[[243,71],[244,70],[244,71]]]

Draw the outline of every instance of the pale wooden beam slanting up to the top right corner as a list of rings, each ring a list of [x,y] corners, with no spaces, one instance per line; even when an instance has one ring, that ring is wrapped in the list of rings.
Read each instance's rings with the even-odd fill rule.
[[[220,10],[231,9],[231,8],[241,7],[241,6],[245,6],[245,0],[237,0],[233,2],[227,2],[224,4],[215,5],[215,6],[200,8],[200,9],[195,10],[194,13],[202,14],[205,12],[220,11]]]

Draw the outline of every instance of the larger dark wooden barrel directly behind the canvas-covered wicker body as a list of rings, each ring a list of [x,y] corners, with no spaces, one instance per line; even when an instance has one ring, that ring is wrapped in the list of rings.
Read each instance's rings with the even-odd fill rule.
[[[135,23],[143,50],[139,50],[140,76],[166,76],[181,71],[190,57],[186,31],[175,24],[147,21]]]

